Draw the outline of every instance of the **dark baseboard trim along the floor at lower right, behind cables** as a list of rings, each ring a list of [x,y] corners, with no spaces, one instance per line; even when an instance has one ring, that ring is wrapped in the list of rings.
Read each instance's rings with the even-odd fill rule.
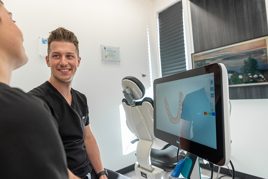
[[[200,163],[200,167],[204,168],[204,169],[211,170],[210,167],[209,167],[209,164]],[[217,172],[218,169],[219,169],[219,167],[215,166],[213,170]],[[232,169],[230,169],[230,170],[231,170],[231,172],[233,172]],[[221,167],[220,173],[224,174],[224,175],[230,175],[229,170],[226,169],[226,168],[223,168],[223,167]],[[242,172],[239,172],[239,171],[235,171],[235,176],[239,177],[239,178],[243,178],[243,179],[264,179],[264,178],[256,177],[256,176],[253,176],[253,175],[250,175],[250,174],[242,173]]]

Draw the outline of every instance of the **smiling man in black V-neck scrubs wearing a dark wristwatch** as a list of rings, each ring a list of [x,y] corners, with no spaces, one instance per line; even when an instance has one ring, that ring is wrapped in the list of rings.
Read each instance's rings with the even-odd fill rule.
[[[128,178],[103,168],[99,147],[89,125],[87,98],[71,88],[81,60],[75,34],[59,27],[50,32],[47,44],[50,79],[28,93],[42,98],[58,122],[70,178],[107,179],[107,175],[109,179]]]

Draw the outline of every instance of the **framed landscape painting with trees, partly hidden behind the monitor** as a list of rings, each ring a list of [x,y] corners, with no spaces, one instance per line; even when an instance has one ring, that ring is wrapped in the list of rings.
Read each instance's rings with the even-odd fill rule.
[[[222,63],[230,87],[268,84],[268,36],[192,54],[193,68]]]

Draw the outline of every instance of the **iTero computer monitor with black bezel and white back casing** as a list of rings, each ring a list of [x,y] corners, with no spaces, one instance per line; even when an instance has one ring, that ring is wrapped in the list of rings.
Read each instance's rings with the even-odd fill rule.
[[[229,91],[223,64],[154,80],[154,135],[218,166],[230,161]]]

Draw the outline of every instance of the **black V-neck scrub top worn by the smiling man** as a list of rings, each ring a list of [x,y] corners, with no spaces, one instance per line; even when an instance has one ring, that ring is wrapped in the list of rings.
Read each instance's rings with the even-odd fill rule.
[[[92,171],[84,145],[84,128],[89,124],[87,98],[71,88],[73,96],[71,106],[65,98],[46,81],[28,92],[45,100],[59,126],[68,168],[79,177]]]

